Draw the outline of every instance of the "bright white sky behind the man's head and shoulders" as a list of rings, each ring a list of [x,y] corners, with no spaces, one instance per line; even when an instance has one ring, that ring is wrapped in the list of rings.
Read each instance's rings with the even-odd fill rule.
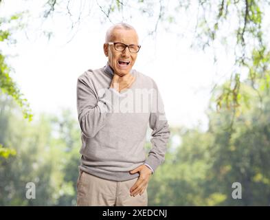
[[[27,34],[14,34],[18,41],[16,46],[3,45],[1,49],[4,54],[18,55],[8,58],[8,63],[14,68],[12,76],[34,113],[46,111],[58,114],[63,108],[70,108],[77,118],[77,78],[87,69],[106,64],[102,47],[104,34],[111,23],[100,22],[102,13],[93,1],[93,14],[81,23],[72,41],[67,43],[71,36],[67,29],[69,17],[56,14],[54,21],[48,19],[43,26],[37,19],[45,2],[4,1],[0,7],[1,16],[27,8],[34,18],[29,20],[30,26],[25,30]],[[195,14],[190,14],[190,17],[196,19]],[[192,20],[183,20],[172,26],[184,37],[164,30],[161,23],[155,39],[147,34],[149,27],[155,26],[155,19],[146,20],[135,14],[131,21],[129,23],[137,29],[142,40],[134,69],[156,81],[169,124],[188,127],[201,124],[201,128],[206,129],[204,111],[213,81],[224,80],[223,76],[232,70],[232,56],[225,50],[218,50],[220,63],[214,66],[211,50],[201,52],[190,49]],[[52,30],[54,36],[47,41],[41,30]]]

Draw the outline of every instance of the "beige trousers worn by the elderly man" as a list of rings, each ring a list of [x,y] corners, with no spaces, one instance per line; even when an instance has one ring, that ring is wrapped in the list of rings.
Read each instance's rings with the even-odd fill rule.
[[[135,197],[129,191],[137,179],[112,181],[80,171],[77,206],[147,206],[147,190]]]

